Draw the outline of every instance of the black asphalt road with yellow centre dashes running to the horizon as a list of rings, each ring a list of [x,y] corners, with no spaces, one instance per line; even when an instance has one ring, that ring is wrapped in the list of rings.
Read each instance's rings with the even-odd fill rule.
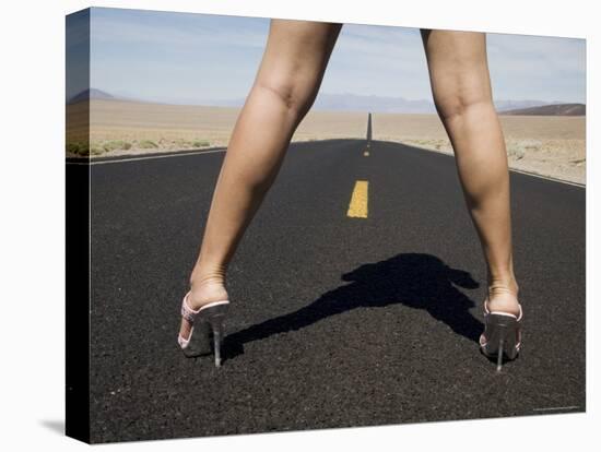
[[[525,345],[497,374],[453,158],[365,151],[291,146],[229,269],[220,369],[176,337],[224,153],[91,167],[93,442],[585,411],[585,189],[511,174]]]

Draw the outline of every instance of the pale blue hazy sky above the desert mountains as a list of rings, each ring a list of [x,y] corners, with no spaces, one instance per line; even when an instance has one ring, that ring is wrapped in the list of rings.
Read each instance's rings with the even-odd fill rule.
[[[246,97],[269,20],[92,9],[91,86],[157,102]],[[488,34],[495,99],[586,102],[584,39]],[[345,24],[321,92],[432,99],[416,28]]]

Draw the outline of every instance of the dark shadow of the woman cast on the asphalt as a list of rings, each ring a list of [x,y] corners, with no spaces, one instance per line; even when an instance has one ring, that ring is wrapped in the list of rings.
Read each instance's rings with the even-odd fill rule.
[[[401,304],[426,310],[457,334],[478,342],[483,324],[469,311],[474,302],[455,286],[478,288],[470,273],[451,269],[431,254],[403,253],[361,265],[342,275],[350,282],[321,295],[294,312],[269,319],[229,334],[224,341],[227,358],[244,353],[244,344],[308,326],[355,308]]]

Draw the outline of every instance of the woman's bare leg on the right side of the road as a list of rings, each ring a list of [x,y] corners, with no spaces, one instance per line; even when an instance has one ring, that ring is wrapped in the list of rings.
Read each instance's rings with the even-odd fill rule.
[[[432,92],[487,263],[488,307],[517,314],[509,173],[482,33],[422,31]]]

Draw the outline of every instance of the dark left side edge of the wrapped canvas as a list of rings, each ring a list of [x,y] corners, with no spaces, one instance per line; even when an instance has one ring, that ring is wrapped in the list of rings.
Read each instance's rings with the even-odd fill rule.
[[[67,95],[82,82],[90,88],[91,10],[66,17]],[[70,41],[69,26],[78,21],[78,51]],[[83,33],[81,33],[83,32]],[[73,68],[80,68],[73,71]],[[70,90],[71,88],[71,90]],[[67,99],[66,99],[67,100]],[[84,100],[85,102],[85,100]],[[90,103],[78,114],[83,141],[90,144]],[[73,116],[67,114],[69,130]],[[69,145],[66,131],[66,145]],[[66,159],[66,435],[90,443],[90,156]]]

